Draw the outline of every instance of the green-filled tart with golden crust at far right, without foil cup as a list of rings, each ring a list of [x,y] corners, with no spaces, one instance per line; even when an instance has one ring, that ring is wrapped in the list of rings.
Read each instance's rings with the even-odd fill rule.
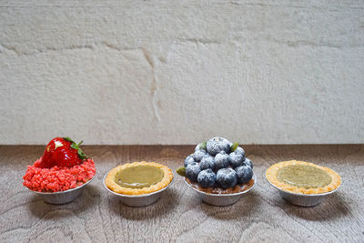
[[[341,177],[329,167],[297,160],[274,164],[267,169],[266,177],[282,190],[303,194],[329,192],[341,184]]]

